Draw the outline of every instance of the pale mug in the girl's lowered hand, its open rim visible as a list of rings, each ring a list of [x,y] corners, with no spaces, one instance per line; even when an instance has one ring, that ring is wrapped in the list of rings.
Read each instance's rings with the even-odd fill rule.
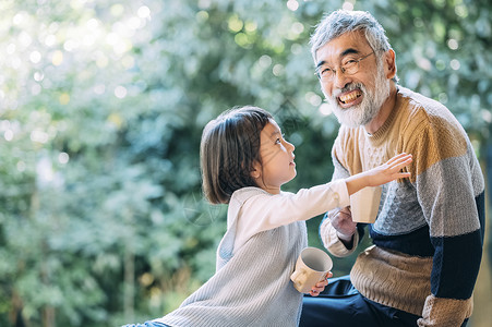
[[[332,267],[332,258],[326,252],[316,247],[304,247],[297,259],[290,280],[296,290],[309,293],[319,281],[326,279]]]

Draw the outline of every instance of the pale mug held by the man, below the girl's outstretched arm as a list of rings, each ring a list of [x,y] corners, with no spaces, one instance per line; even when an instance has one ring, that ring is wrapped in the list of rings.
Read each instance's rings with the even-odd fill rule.
[[[382,186],[369,186],[350,195],[352,221],[374,223],[380,208],[382,190]]]

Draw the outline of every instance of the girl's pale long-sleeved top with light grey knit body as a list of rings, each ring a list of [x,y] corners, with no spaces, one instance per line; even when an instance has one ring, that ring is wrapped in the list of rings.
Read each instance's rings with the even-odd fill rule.
[[[128,326],[297,326],[302,294],[290,275],[308,244],[303,220],[348,202],[345,181],[297,194],[273,195],[257,187],[236,191],[217,250],[216,274],[176,311],[146,325]],[[235,249],[238,237],[242,241]]]

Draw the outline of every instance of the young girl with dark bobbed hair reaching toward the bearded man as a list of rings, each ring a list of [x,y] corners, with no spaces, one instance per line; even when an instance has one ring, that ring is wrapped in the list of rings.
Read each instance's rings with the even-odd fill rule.
[[[346,180],[298,193],[280,191],[296,177],[295,146],[265,110],[224,112],[203,131],[203,191],[213,204],[229,204],[227,232],[215,275],[168,315],[133,326],[297,326],[302,294],[290,281],[308,245],[304,220],[349,205],[349,195],[408,178],[411,155]],[[327,284],[317,283],[311,295]],[[131,326],[131,325],[127,325]]]

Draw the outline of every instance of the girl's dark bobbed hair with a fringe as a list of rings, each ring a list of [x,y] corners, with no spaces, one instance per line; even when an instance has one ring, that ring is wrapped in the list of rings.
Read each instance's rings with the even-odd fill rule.
[[[228,204],[236,190],[256,186],[260,133],[273,120],[257,107],[232,108],[206,124],[200,146],[203,192],[213,204]]]

